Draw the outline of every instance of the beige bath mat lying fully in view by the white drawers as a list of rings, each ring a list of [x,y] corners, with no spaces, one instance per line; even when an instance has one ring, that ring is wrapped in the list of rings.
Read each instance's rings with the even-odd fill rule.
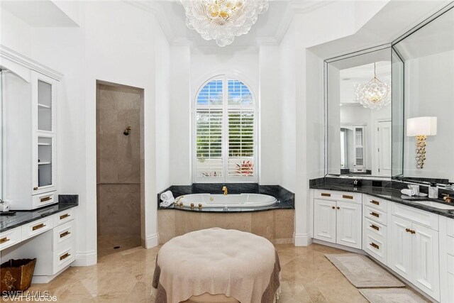
[[[331,255],[327,253],[325,256],[357,288],[405,286],[365,255],[358,253]]]

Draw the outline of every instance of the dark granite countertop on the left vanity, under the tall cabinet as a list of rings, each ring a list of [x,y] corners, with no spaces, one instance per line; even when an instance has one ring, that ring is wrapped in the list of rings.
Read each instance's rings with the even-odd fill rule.
[[[31,211],[16,211],[16,214],[12,216],[0,216],[0,233],[79,205],[77,195],[60,195],[58,198],[59,203],[57,204]]]

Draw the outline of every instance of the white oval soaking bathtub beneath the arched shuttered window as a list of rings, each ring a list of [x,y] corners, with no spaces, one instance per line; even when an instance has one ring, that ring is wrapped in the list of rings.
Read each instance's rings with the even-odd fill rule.
[[[272,206],[277,199],[267,194],[185,194],[175,199],[175,203],[183,203],[183,206],[195,207],[259,207]]]

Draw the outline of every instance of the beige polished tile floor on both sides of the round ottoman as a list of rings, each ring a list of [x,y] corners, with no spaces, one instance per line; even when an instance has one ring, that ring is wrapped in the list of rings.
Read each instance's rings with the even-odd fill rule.
[[[344,250],[318,244],[276,248],[282,265],[279,303],[367,302],[324,256]],[[154,302],[151,282],[158,250],[138,247],[104,255],[97,265],[69,268],[50,283],[29,290],[48,291],[57,302]]]

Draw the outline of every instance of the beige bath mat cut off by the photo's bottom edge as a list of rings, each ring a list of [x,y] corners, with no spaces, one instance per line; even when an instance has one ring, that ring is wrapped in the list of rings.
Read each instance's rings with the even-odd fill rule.
[[[370,303],[426,303],[422,297],[406,288],[363,288],[360,293]]]

